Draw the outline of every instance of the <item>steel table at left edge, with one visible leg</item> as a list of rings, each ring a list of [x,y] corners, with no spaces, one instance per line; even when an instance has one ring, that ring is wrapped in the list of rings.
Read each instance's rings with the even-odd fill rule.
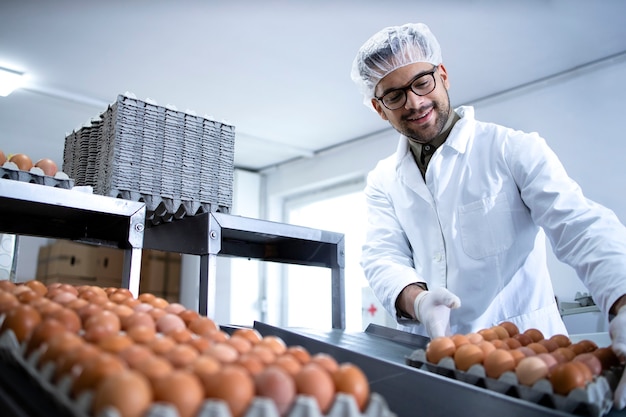
[[[137,296],[145,204],[0,179],[0,232],[124,249],[121,285]]]

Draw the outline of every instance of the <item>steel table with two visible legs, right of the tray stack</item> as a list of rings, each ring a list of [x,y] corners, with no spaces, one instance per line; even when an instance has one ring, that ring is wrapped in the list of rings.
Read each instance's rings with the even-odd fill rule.
[[[332,327],[345,328],[342,233],[224,213],[203,213],[148,225],[144,247],[201,256],[199,311],[209,317],[214,312],[217,255],[330,268]]]

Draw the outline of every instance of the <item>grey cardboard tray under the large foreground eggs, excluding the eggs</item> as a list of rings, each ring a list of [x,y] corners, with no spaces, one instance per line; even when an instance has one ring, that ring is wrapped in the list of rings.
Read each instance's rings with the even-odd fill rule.
[[[0,315],[0,325],[4,320]],[[0,334],[0,355],[5,353],[11,360],[19,362],[21,367],[35,378],[39,385],[53,396],[63,409],[68,410],[73,417],[121,417],[114,407],[107,407],[92,416],[90,413],[93,401],[93,392],[84,391],[77,398],[71,398],[71,377],[65,376],[58,382],[53,379],[54,364],[47,363],[38,368],[40,351],[26,354],[26,344],[19,343],[10,329]],[[6,356],[4,355],[4,356]],[[1,357],[1,356],[0,356]],[[388,407],[385,399],[377,393],[371,393],[369,403],[364,412],[361,412],[353,396],[337,393],[327,414],[322,414],[315,398],[307,395],[298,395],[286,417],[397,417]],[[179,417],[176,408],[167,403],[154,403],[144,417]],[[228,405],[219,399],[206,399],[196,417],[232,417]],[[255,397],[243,417],[284,417],[278,412],[276,404],[269,398]]]

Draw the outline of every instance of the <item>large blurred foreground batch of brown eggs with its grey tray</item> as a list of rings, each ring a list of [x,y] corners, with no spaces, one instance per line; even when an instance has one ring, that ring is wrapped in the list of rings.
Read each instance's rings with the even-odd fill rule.
[[[150,293],[0,281],[0,359],[75,417],[394,417],[363,371]]]

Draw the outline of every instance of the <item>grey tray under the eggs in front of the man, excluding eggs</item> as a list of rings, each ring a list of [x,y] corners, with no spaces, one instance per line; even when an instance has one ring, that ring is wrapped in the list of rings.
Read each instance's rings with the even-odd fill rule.
[[[434,364],[426,359],[426,352],[417,349],[406,357],[409,366],[427,370],[471,385],[526,400],[541,406],[574,415],[601,417],[613,407],[613,390],[621,372],[605,371],[594,381],[582,388],[572,390],[567,396],[556,394],[547,379],[541,379],[532,386],[519,383],[514,372],[505,372],[498,379],[486,376],[482,364],[472,365],[467,371],[456,368],[454,359],[442,358]]]

